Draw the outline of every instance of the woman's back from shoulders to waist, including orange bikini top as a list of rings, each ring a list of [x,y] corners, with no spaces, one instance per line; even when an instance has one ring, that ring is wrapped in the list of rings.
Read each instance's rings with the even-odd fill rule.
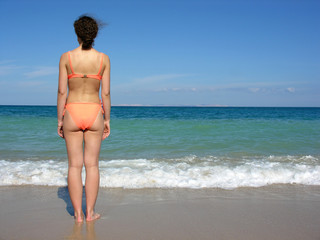
[[[68,100],[72,102],[99,103],[99,77],[104,71],[103,54],[79,48],[68,52]]]

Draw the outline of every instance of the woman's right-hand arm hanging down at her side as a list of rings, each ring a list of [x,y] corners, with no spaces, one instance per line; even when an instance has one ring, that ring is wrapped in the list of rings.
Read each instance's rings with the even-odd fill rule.
[[[104,130],[102,140],[106,139],[110,135],[110,59],[107,55],[104,55],[106,67],[104,69],[101,80],[101,98],[104,110]]]

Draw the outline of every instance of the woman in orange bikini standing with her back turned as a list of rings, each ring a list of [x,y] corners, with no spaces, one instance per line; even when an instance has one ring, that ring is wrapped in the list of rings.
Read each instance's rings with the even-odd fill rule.
[[[97,21],[81,16],[74,22],[79,47],[62,54],[59,64],[58,134],[66,141],[68,189],[74,218],[82,222],[82,167],[86,170],[86,220],[98,219],[94,206],[99,190],[101,141],[110,134],[110,61],[93,49]],[[101,98],[99,99],[101,85]],[[68,91],[69,90],[69,91]],[[104,118],[103,118],[104,114]]]

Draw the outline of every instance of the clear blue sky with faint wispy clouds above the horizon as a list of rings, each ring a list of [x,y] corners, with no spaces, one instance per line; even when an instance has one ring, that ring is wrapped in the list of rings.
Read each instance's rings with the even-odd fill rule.
[[[320,107],[320,1],[1,0],[0,104],[55,105],[83,13],[113,105]]]

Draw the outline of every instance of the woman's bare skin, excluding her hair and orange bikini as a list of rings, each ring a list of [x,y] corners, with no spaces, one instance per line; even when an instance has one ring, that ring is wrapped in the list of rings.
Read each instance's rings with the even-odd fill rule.
[[[75,73],[96,74],[100,66],[101,55],[91,48],[82,50],[80,46],[73,51],[72,65]],[[68,152],[68,189],[76,222],[83,222],[82,213],[82,167],[85,166],[85,194],[86,194],[86,221],[100,218],[94,212],[99,190],[99,153],[101,141],[110,134],[110,62],[107,55],[103,55],[102,80],[90,78],[71,78],[67,53],[60,59],[59,88],[58,88],[58,134],[65,139]],[[63,110],[66,103],[90,102],[99,103],[99,89],[101,84],[101,98],[105,115],[101,110],[90,129],[82,131],[78,128],[68,111]],[[69,89],[69,93],[68,93]]]

